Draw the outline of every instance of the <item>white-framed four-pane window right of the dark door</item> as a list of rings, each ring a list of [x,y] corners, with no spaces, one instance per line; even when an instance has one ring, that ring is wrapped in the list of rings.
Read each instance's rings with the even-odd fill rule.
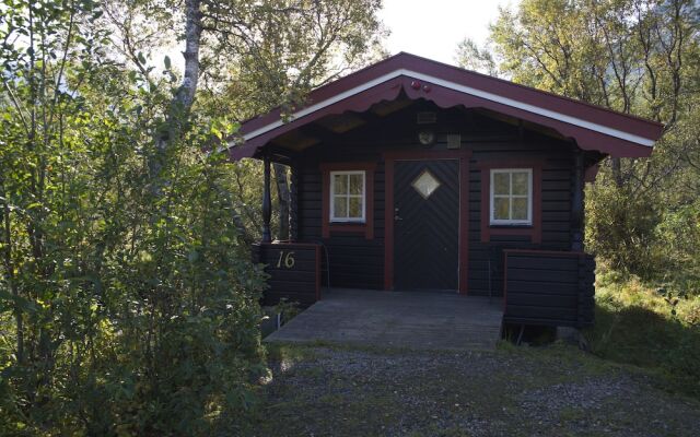
[[[491,224],[533,224],[533,169],[491,169]]]

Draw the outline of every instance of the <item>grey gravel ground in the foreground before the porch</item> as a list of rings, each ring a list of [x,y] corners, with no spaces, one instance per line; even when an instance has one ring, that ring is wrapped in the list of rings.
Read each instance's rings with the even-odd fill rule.
[[[256,436],[700,436],[700,402],[571,346],[282,346]]]

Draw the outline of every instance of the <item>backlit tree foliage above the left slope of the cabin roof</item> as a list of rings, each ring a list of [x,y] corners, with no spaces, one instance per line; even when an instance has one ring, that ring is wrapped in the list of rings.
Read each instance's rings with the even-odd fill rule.
[[[223,86],[206,87],[207,98],[237,119],[293,108],[310,90],[384,55],[381,7],[381,0],[211,2],[205,26],[219,38],[205,61],[226,68],[207,71],[207,81]]]

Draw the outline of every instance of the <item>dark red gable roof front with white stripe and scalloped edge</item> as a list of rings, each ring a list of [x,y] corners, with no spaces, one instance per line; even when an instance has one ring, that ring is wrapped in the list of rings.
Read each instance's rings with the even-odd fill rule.
[[[364,111],[401,91],[447,108],[487,108],[555,129],[583,150],[620,157],[649,156],[663,125],[574,101],[474,71],[400,52],[312,91],[288,120],[277,108],[243,123],[242,145],[229,142],[231,158],[255,156],[270,140],[301,126],[345,111]]]

